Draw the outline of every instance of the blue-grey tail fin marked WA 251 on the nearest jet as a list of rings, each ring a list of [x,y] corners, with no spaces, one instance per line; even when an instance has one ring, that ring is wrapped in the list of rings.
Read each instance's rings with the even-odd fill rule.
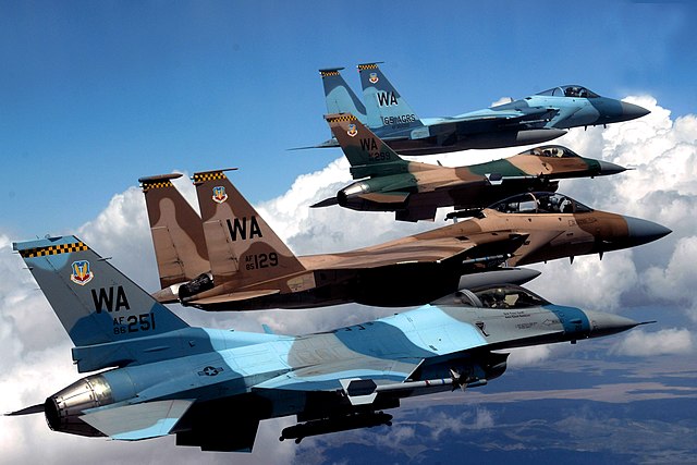
[[[76,346],[188,328],[75,236],[13,244]]]

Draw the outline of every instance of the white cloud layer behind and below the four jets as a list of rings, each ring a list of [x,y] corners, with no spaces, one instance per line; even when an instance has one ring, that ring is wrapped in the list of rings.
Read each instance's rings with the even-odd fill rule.
[[[560,191],[599,209],[632,215],[671,229],[668,237],[634,250],[598,257],[579,257],[539,265],[543,274],[529,287],[545,297],[566,305],[622,311],[636,305],[667,305],[683,308],[697,321],[697,117],[675,121],[670,111],[648,96],[628,97],[651,110],[640,120],[588,131],[573,130],[558,143],[574,151],[601,158],[636,170],[597,180],[562,182]],[[466,151],[423,157],[458,166],[511,156],[519,149]],[[232,175],[234,182],[234,174]],[[429,230],[443,223],[439,211],[436,223],[398,223],[390,213],[359,213],[340,207],[309,209],[309,205],[334,195],[350,181],[347,163],[337,159],[315,173],[299,176],[281,197],[262,203],[258,209],[297,254],[346,250],[389,238]],[[185,196],[195,197],[191,184],[179,180]],[[149,237],[145,204],[138,188],[117,194],[95,220],[77,228],[77,235],[100,255],[149,291],[157,287],[155,257]],[[0,411],[17,409],[42,400],[78,378],[70,360],[70,342],[22,260],[10,252],[11,238],[0,236]],[[330,329],[393,313],[344,305],[327,309],[207,315],[176,309],[193,325],[259,330],[268,323],[281,332],[303,333]],[[297,318],[302,315],[302,318]],[[660,316],[657,316],[660,319]],[[690,328],[634,330],[621,339],[617,354],[651,356],[694,351]],[[539,364],[554,356],[552,347],[516,351],[513,365]],[[504,375],[505,376],[505,375]],[[476,424],[486,428],[493,419],[486,411],[477,413]],[[279,443],[278,431],[291,419],[264,423],[253,457],[235,455],[244,463],[289,462],[295,445]],[[444,425],[448,425],[444,423]],[[409,430],[402,431],[408,436]],[[412,430],[413,432],[413,430]],[[105,440],[53,433],[44,419],[34,415],[0,418],[0,462],[26,460],[42,463],[167,462],[199,458],[198,450],[175,449],[173,439],[123,444]],[[69,451],[80,450],[78,455]],[[59,452],[60,451],[60,452]],[[204,460],[229,462],[225,454],[205,454]]]

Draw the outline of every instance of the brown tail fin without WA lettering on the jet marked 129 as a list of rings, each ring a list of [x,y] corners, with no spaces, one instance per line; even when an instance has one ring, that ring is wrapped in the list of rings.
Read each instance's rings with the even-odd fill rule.
[[[210,272],[200,217],[171,182],[180,176],[161,174],[138,180],[163,290]]]

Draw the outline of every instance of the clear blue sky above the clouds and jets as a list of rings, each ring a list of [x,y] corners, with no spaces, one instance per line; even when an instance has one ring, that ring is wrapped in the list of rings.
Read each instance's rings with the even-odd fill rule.
[[[571,11],[567,11],[571,10]],[[337,150],[317,70],[384,61],[421,117],[558,84],[697,105],[683,3],[0,2],[0,229],[64,233],[142,175],[240,167],[253,200]]]

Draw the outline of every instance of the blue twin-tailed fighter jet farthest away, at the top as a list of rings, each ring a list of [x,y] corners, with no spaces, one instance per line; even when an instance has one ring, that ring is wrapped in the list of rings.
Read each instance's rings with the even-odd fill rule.
[[[637,105],[601,97],[586,87],[565,85],[455,117],[419,119],[378,63],[358,65],[365,106],[357,105],[340,70],[320,70],[328,112],[355,114],[403,155],[539,144],[564,135],[571,127],[607,125],[649,113]],[[337,145],[335,139],[330,139],[316,147]]]

